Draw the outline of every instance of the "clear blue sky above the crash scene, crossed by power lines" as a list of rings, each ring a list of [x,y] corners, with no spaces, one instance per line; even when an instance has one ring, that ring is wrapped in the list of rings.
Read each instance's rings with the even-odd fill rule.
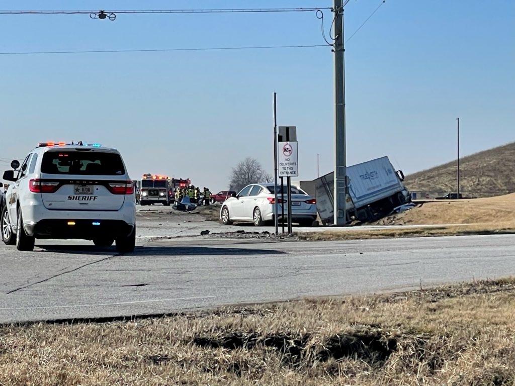
[[[349,37],[380,4],[351,0]],[[11,1],[0,9],[330,7],[332,1]],[[329,28],[330,12],[325,12]],[[515,2],[387,0],[346,44],[347,162],[405,173],[515,141]],[[314,13],[0,15],[0,52],[323,44]],[[0,55],[0,170],[41,141],[99,142],[144,172],[226,188],[246,156],[273,170],[297,126],[299,180],[333,169],[333,54],[305,49]]]

